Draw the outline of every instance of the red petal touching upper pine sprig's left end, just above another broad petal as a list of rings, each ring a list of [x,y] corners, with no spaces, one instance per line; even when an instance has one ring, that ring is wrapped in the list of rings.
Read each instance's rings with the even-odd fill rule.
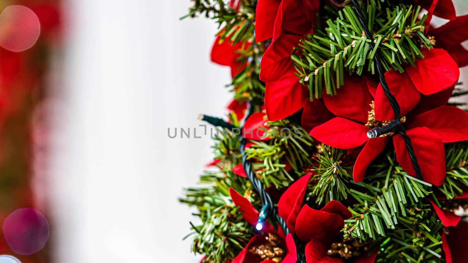
[[[299,43],[300,36],[282,34],[265,51],[260,63],[260,80],[273,82],[291,71],[292,50]],[[295,71],[294,71],[295,72]],[[296,81],[299,81],[296,78]]]

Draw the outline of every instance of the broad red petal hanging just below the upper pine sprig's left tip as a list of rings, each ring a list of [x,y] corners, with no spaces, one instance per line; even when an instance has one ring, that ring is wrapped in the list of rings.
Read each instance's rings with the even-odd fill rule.
[[[307,88],[299,83],[298,77],[290,68],[281,79],[265,85],[265,109],[268,119],[278,121],[304,107],[308,100]]]

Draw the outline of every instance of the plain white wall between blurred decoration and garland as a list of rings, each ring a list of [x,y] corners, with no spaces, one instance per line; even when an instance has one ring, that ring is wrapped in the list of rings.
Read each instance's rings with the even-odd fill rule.
[[[182,242],[193,218],[177,197],[211,159],[212,141],[169,139],[167,128],[222,114],[230,75],[209,62],[213,22],[179,22],[189,6],[67,2],[52,144],[55,263],[197,262]]]

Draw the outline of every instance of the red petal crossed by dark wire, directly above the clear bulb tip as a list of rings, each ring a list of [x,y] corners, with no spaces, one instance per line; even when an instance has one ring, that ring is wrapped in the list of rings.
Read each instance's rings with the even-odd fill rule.
[[[419,92],[417,92],[407,73],[399,73],[395,70],[390,70],[385,73],[385,80],[387,81],[388,89],[395,96],[396,101],[400,105],[402,116],[412,110],[417,102],[419,102]],[[374,110],[375,119],[379,121],[396,119],[390,101],[387,95],[385,95],[380,83],[375,92]]]

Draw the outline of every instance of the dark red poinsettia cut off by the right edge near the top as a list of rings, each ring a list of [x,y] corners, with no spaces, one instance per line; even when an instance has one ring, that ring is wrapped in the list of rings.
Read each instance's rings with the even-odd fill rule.
[[[458,16],[455,20],[436,29],[430,29],[428,36],[434,37],[436,47],[446,50],[459,67],[468,66],[468,51],[461,45],[468,39],[468,15]]]

